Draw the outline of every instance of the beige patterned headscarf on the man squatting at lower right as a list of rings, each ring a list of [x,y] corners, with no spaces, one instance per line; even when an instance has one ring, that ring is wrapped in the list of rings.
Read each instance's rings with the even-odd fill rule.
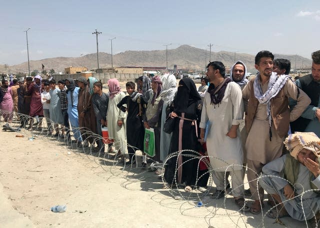
[[[320,139],[313,132],[295,132],[284,141],[290,155],[297,159],[298,153],[305,149],[312,151],[316,157],[320,155]]]

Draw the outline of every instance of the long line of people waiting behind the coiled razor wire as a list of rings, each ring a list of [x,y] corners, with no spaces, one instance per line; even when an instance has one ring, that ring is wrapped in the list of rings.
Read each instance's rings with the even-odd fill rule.
[[[190,78],[177,85],[172,74],[144,75],[125,84],[127,95],[115,78],[107,82],[108,93],[94,77],[79,77],[75,84],[70,78],[56,82],[37,75],[14,79],[11,87],[3,80],[0,109],[9,123],[13,110],[28,115],[20,118],[20,127],[31,130],[43,117],[49,135],[71,140],[72,131],[73,143],[96,143],[95,150],[102,152],[108,144],[106,153],[116,152],[123,163],[136,163],[140,150],[141,168],[148,159],[145,129],[152,129],[152,160],[165,162],[156,173],[167,187],[183,184],[186,192],[205,191],[211,174],[215,200],[231,188],[240,210],[259,214],[266,191],[267,204],[274,207],[268,217],[313,218],[314,225],[320,219],[320,196],[313,191],[320,189],[320,50],[311,57],[311,74],[295,81],[290,62],[264,50],[255,56],[258,73],[250,80],[242,61],[233,64],[229,77],[223,63],[213,61],[198,89]],[[102,140],[103,127],[113,142]],[[96,135],[101,137],[96,140]],[[250,205],[246,195],[251,195]]]

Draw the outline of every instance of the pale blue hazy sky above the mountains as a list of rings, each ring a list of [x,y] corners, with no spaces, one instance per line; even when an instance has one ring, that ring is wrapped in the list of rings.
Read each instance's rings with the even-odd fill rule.
[[[99,51],[164,50],[299,54],[320,49],[320,0],[0,0],[0,64]]]

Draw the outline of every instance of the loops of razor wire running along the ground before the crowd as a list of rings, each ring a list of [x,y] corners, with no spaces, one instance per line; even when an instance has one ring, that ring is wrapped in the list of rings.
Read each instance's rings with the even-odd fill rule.
[[[21,132],[21,133],[23,132],[23,134],[27,135],[28,140],[30,141],[35,139],[40,139],[43,141],[45,140],[49,141],[50,143],[54,142],[55,146],[60,146],[64,148],[65,151],[72,151],[75,155],[79,156],[81,159],[83,160],[86,159],[86,160],[89,160],[89,162],[94,162],[97,165],[97,167],[100,167],[103,170],[103,174],[108,174],[106,180],[109,182],[113,182],[113,180],[120,179],[122,180],[122,182],[120,183],[121,187],[126,188],[128,190],[137,190],[137,189],[132,189],[129,186],[134,183],[141,183],[141,182],[154,183],[156,181],[155,180],[156,178],[154,178],[153,173],[148,172],[148,168],[138,167],[138,161],[140,160],[139,157],[141,157],[141,155],[137,155],[136,153],[134,153],[133,157],[135,158],[135,163],[133,163],[132,161],[134,161],[134,159],[132,159],[131,162],[127,162],[125,159],[125,155],[119,153],[119,150],[117,151],[115,150],[114,153],[108,153],[108,152],[102,151],[101,148],[97,148],[95,145],[97,145],[98,140],[103,140],[104,138],[100,135],[97,135],[91,132],[87,128],[78,127],[78,128],[72,129],[72,127],[70,126],[69,130],[65,130],[64,136],[60,134],[61,129],[59,129],[58,130],[59,134],[57,135],[56,138],[53,138],[51,137],[51,134],[50,134],[51,131],[48,129],[48,126],[52,125],[53,130],[55,131],[57,129],[55,126],[60,124],[54,123],[49,118],[40,117],[40,120],[37,123],[37,121],[35,121],[34,118],[25,114],[8,112],[4,110],[0,110],[0,113],[3,118],[7,117],[6,123],[3,124],[2,126],[3,127],[2,131],[15,131],[15,132]],[[10,117],[11,117],[11,120],[10,120]],[[4,123],[3,118],[1,118],[0,123]],[[46,127],[41,126],[41,125],[45,126],[44,124],[46,125]],[[73,135],[77,131],[79,131],[81,137],[84,136],[82,138],[82,142],[80,143],[76,142],[76,140],[73,137]],[[91,143],[88,143],[88,141],[91,141]],[[116,145],[116,143],[119,143],[119,142],[113,139],[113,146],[118,146]],[[105,146],[107,148],[108,144],[105,144]],[[127,144],[126,146],[131,147],[133,151],[139,150],[138,148],[133,147],[129,144]],[[108,149],[109,148],[107,148],[107,150]],[[182,164],[178,165],[178,161],[177,161],[178,156],[181,156],[187,159],[186,161],[182,162]],[[124,158],[124,159],[120,161],[120,158]],[[149,169],[151,171],[155,171],[157,169],[161,171],[161,175],[157,177],[160,177],[161,183],[163,185],[163,188],[158,190],[157,192],[153,190],[154,192],[156,192],[156,194],[151,197],[151,200],[158,202],[159,205],[161,206],[178,209],[181,215],[195,217],[195,218],[203,218],[205,222],[209,225],[209,227],[213,227],[213,226],[215,227],[216,225],[218,225],[217,224],[218,220],[224,217],[228,218],[234,224],[234,227],[247,227],[248,225],[247,215],[250,215],[250,214],[245,214],[243,208],[232,209],[232,207],[234,208],[234,205],[230,205],[229,200],[230,200],[230,196],[232,196],[232,192],[234,191],[234,189],[230,190],[226,188],[227,183],[229,183],[229,181],[226,178],[224,180],[225,196],[223,197],[223,201],[221,202],[221,200],[213,200],[209,196],[211,189],[213,189],[212,175],[214,175],[215,171],[224,169],[224,177],[226,177],[227,173],[231,173],[234,167],[237,167],[237,166],[242,167],[244,170],[246,167],[241,165],[227,164],[227,162],[217,157],[203,156],[200,153],[193,150],[181,150],[181,151],[171,153],[164,159],[162,164],[153,161],[153,159],[150,157],[148,157],[148,159],[152,161],[151,165],[149,166]],[[168,164],[168,161],[172,159],[176,159],[176,162],[175,162],[175,171],[173,175],[173,182],[171,183],[171,186],[170,186],[168,183],[166,183],[163,174],[164,174],[165,166]],[[214,159],[225,163],[225,166],[220,168],[213,168],[210,165],[209,160],[214,160]],[[197,169],[195,173],[196,181],[194,186],[191,186],[192,187],[191,191],[185,192],[183,191],[183,187],[185,185],[183,185],[183,183],[178,183],[176,180],[177,172],[178,172],[178,169],[181,169],[184,164],[188,162],[194,162],[194,161],[197,162],[197,165],[196,165]],[[203,162],[205,167],[207,168],[207,170],[201,175],[199,174],[200,162]],[[254,172],[253,170],[251,171]],[[152,175],[150,175],[150,173]],[[198,191],[197,183],[205,175],[209,176],[207,181],[207,188],[204,192],[200,192]],[[252,180],[251,182],[256,183],[256,188],[257,188],[259,180],[261,178],[265,178],[266,176],[265,175],[261,176],[258,174],[256,175],[257,175],[257,178]],[[278,176],[269,175],[267,177],[272,177],[273,179],[278,178],[278,179],[285,180],[284,178],[281,178]],[[245,184],[248,184],[248,182],[243,182],[243,186]],[[240,187],[241,186],[238,186],[236,188],[240,188]],[[294,196],[292,199],[288,199],[282,202],[282,203],[286,203],[286,202],[289,202],[290,200],[295,200],[298,204],[301,205],[301,210],[304,217],[304,220],[302,222],[305,224],[307,228],[310,226],[308,225],[307,219],[306,219],[308,216],[304,212],[305,207],[307,207],[307,205],[305,206],[307,202],[304,200],[303,196],[306,193],[312,192],[312,191],[314,190],[303,190],[301,194]],[[161,198],[160,200],[157,199],[157,197],[159,196]],[[248,197],[245,197],[243,195],[243,198],[248,198]],[[251,198],[248,198],[248,199],[250,200]],[[263,206],[262,206],[261,200],[262,199],[260,199],[259,197],[261,221],[258,227],[264,228],[266,227],[265,217],[267,217],[267,214],[274,209],[276,210],[276,212],[280,211],[281,208],[279,207],[281,206],[281,204],[277,204],[277,202],[273,199],[273,202],[275,205],[270,209],[266,210],[266,212],[263,212]],[[167,201],[167,203],[164,201]],[[199,205],[199,203],[201,204]],[[197,215],[194,212],[195,210],[198,210],[198,208],[201,208],[201,211],[200,213],[198,213],[199,211],[197,211],[198,213]],[[312,218],[316,219],[316,214],[318,211],[315,211],[313,209],[309,211],[312,214]],[[278,218],[275,219],[274,223],[285,225]],[[267,224],[272,227],[272,223],[267,223]]]

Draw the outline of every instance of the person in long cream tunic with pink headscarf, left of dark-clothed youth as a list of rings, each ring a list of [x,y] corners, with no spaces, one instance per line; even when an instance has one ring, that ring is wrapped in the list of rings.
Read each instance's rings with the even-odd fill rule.
[[[116,105],[125,97],[125,93],[121,92],[119,81],[116,78],[108,80],[108,87],[109,103],[106,122],[109,138],[113,139],[113,146],[118,154],[124,155],[127,154],[124,128],[126,113],[122,112]],[[125,161],[123,156],[122,161]]]

